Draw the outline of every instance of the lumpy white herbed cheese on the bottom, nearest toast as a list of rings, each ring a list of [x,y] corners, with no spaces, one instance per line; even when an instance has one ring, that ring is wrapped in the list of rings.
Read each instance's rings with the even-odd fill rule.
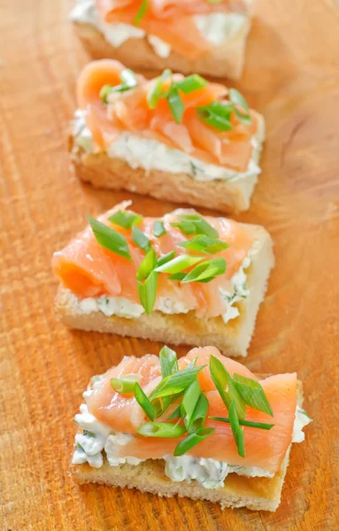
[[[100,386],[102,376],[92,379],[92,389]],[[83,393],[85,400],[92,394],[92,389]],[[75,435],[75,447],[73,453],[73,465],[89,463],[89,466],[100,468],[104,464],[102,451],[105,451],[107,460],[111,466],[119,466],[127,463],[137,466],[143,459],[127,456],[119,458],[119,448],[130,443],[134,435],[114,432],[111,427],[99,422],[89,413],[86,404],[81,404],[81,414],[75,415],[74,421],[81,427],[83,434]],[[308,415],[297,405],[296,419],[293,427],[292,443],[304,441],[303,428],[312,421]],[[247,477],[274,477],[273,473],[259,468],[258,466],[235,466],[212,458],[195,458],[184,455],[173,457],[164,456],[165,473],[172,481],[198,481],[205,489],[218,489],[224,486],[228,473],[237,473]]]

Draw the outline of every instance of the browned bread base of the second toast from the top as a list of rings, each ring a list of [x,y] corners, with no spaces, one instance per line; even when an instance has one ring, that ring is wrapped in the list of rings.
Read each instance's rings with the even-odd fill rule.
[[[203,206],[220,212],[239,213],[250,208],[250,196],[258,181],[257,175],[238,180],[196,181],[186,173],[161,172],[131,168],[120,158],[111,158],[104,151],[86,153],[69,135],[69,151],[73,169],[81,181],[96,188],[125,189],[141,195],[173,203]]]

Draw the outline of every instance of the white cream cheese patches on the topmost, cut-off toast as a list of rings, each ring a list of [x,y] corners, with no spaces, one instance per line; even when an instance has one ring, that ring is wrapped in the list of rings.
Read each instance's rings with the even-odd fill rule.
[[[143,39],[146,37],[150,42],[150,46],[160,58],[168,58],[171,55],[172,48],[167,42],[155,35],[146,35],[145,31],[140,27],[119,22],[111,24],[104,22],[99,13],[96,12],[94,0],[77,0],[70,18],[75,22],[96,27],[104,35],[105,40],[110,42],[114,48],[119,48],[128,39]],[[240,13],[213,12],[206,15],[194,15],[193,19],[204,39],[216,47],[232,41],[242,31],[247,34],[250,29],[249,18]]]

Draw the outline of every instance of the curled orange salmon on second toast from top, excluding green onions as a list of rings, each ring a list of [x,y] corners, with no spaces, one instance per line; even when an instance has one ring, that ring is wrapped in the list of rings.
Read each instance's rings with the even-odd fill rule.
[[[99,150],[105,150],[119,135],[128,131],[144,138],[166,143],[172,149],[179,149],[215,165],[223,165],[243,171],[247,168],[253,151],[251,137],[258,128],[258,115],[250,112],[253,120],[245,125],[231,116],[233,129],[224,132],[211,127],[196,115],[196,107],[227,101],[227,88],[218,83],[208,83],[189,94],[181,93],[184,112],[181,123],[175,123],[166,98],[150,109],[147,96],[155,80],[146,81],[137,75],[138,85],[125,92],[109,97],[109,104],[103,104],[100,90],[104,85],[120,84],[120,73],[124,69],[118,61],[103,59],[85,66],[78,82],[78,101],[86,111],[86,121]],[[173,74],[174,81],[181,81],[181,74]],[[170,79],[164,81],[163,89],[169,87]]]

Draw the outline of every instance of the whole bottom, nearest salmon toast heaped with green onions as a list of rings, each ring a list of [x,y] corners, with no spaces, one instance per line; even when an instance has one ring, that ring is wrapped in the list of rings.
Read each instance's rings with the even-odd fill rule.
[[[275,511],[291,443],[311,422],[296,373],[258,376],[214,347],[177,360],[128,356],[95,376],[75,415],[73,474],[135,488]]]

